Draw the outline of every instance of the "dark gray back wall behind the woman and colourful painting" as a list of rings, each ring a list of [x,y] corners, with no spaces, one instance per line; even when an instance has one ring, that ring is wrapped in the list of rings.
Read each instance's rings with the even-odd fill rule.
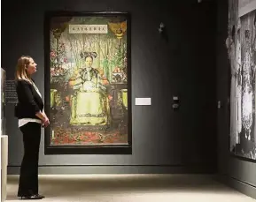
[[[194,0],[172,1],[170,6],[165,0],[40,0],[31,3],[23,0],[10,5],[6,2],[2,1],[2,67],[7,71],[7,79],[13,79],[18,57],[33,56],[38,64],[35,80],[42,93],[44,11],[130,11],[132,16],[132,155],[44,155],[42,137],[42,167],[148,165],[174,168],[168,172],[215,171],[216,18],[213,4],[197,4]],[[168,41],[159,35],[160,22],[167,26]],[[172,96],[176,94],[181,98],[181,108],[174,112]],[[135,106],[136,97],[151,97],[152,105]],[[9,166],[19,167],[22,136],[12,108],[7,106]],[[89,172],[96,172],[95,167],[91,168]],[[159,170],[154,172],[161,172]]]

